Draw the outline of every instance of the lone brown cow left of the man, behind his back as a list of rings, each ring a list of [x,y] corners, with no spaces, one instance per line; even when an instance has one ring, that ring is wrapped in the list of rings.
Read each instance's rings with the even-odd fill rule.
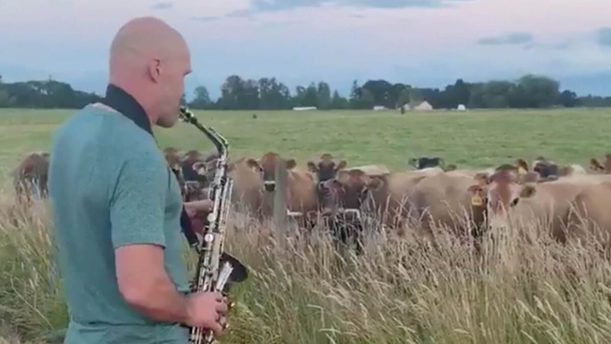
[[[32,198],[46,198],[49,159],[47,152],[32,152],[27,154],[10,173],[18,202],[29,202]]]

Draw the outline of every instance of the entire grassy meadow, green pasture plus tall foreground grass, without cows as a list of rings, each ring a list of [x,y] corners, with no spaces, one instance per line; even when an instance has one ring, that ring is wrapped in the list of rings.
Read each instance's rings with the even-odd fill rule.
[[[7,173],[27,152],[48,150],[54,127],[71,112],[0,110],[0,343],[58,342],[67,324],[51,219],[44,207],[10,207]],[[587,168],[590,157],[611,152],[604,109],[196,114],[230,141],[233,157],[275,151],[302,167],[328,152],[349,166],[391,170],[422,155],[459,167],[543,155]],[[211,148],[187,124],[156,136],[160,148]],[[228,250],[251,278],[235,290],[221,343],[611,342],[611,262],[594,243],[559,245],[544,234],[526,240],[511,228],[486,238],[478,255],[449,236],[431,250],[375,232],[357,256],[335,252],[323,231],[286,237],[240,214],[231,224]]]

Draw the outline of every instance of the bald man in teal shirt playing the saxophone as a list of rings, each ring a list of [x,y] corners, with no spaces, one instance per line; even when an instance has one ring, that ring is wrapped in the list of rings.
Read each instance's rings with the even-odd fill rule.
[[[175,124],[190,71],[177,31],[131,20],[112,41],[104,100],[54,133],[49,196],[70,312],[65,343],[186,343],[181,325],[224,329],[221,294],[187,294],[180,190],[151,129]],[[210,212],[209,203],[185,208]]]

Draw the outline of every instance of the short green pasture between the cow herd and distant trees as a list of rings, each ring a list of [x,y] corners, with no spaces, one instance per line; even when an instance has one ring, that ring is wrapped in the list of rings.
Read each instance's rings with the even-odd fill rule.
[[[0,110],[0,168],[7,172],[29,151],[46,150],[51,132],[71,110]],[[252,114],[257,114],[257,119]],[[196,111],[229,140],[232,157],[276,151],[305,166],[329,152],[349,165],[408,168],[410,157],[440,155],[458,166],[488,167],[531,160],[587,164],[611,152],[611,110],[526,111]],[[210,149],[195,127],[157,129],[159,146]],[[585,165],[587,166],[587,165]]]

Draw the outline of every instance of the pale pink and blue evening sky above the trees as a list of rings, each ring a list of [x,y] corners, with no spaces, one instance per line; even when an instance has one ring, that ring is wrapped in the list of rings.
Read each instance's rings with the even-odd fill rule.
[[[611,0],[0,0],[4,81],[67,81],[102,94],[120,26],[155,16],[191,50],[188,99],[232,74],[298,84],[419,87],[526,73],[611,95]]]

